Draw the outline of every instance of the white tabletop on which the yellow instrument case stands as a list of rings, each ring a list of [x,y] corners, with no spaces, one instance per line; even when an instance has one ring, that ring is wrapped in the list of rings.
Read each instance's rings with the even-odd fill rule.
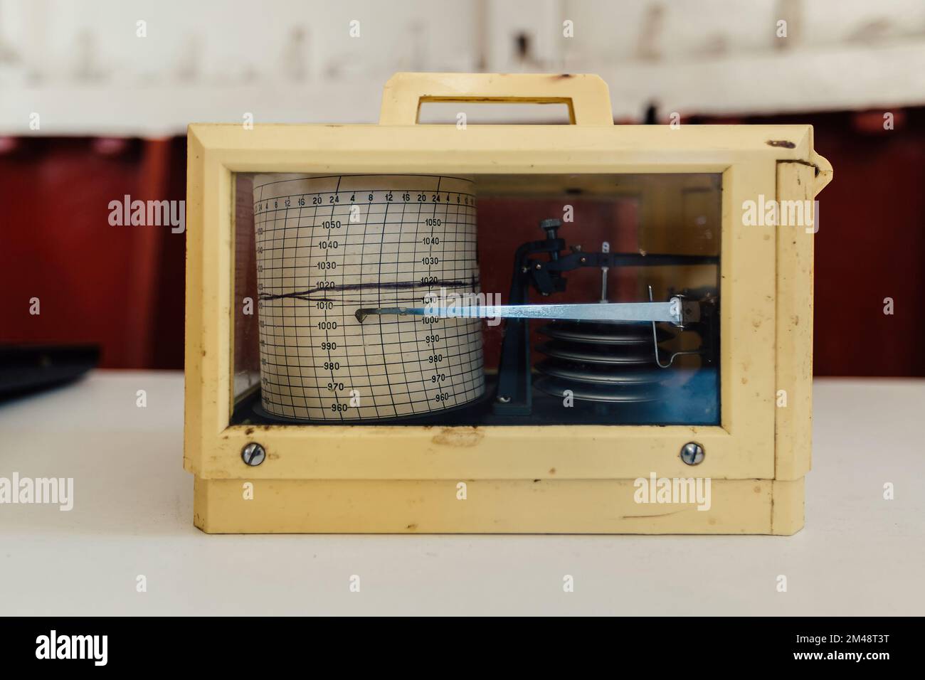
[[[0,614],[925,613],[925,380],[816,381],[789,538],[207,536],[182,401],[179,373],[96,372],[0,405],[0,476],[75,487],[0,504]]]

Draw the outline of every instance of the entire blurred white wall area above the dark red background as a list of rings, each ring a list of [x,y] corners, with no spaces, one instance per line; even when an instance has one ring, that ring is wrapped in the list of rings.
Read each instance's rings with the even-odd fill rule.
[[[171,134],[244,112],[374,122],[391,73],[480,67],[598,72],[617,117],[650,100],[682,114],[921,105],[925,3],[0,0],[0,134]]]

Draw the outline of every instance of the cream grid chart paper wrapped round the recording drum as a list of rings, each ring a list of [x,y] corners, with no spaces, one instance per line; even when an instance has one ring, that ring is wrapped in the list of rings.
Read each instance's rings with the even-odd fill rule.
[[[387,419],[483,395],[478,319],[354,316],[479,292],[473,190],[442,176],[254,177],[267,413]]]

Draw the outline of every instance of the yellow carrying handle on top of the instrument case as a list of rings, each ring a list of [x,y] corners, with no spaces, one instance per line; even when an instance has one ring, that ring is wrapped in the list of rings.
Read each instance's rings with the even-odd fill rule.
[[[607,83],[591,74],[396,73],[379,125],[415,125],[424,102],[565,104],[573,125],[613,125]]]

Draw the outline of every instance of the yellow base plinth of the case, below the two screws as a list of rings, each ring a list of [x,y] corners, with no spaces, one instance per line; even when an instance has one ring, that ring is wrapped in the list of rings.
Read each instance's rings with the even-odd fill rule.
[[[802,477],[710,480],[707,510],[699,510],[693,499],[637,502],[642,490],[633,479],[459,482],[197,476],[194,488],[193,521],[209,534],[790,536],[803,527],[804,517]]]

